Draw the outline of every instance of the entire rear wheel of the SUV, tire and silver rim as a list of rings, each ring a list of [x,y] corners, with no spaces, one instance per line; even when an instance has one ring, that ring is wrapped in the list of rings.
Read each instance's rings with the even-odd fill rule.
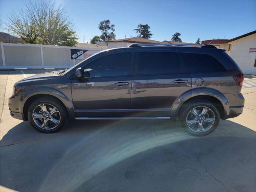
[[[205,111],[206,113],[201,117]],[[180,123],[186,132],[194,136],[205,136],[212,133],[218,127],[219,122],[218,109],[207,100],[192,100],[181,109]]]

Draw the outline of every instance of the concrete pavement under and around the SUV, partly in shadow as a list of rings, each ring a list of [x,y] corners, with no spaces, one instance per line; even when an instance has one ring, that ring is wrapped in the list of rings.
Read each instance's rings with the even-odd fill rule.
[[[8,98],[45,71],[1,72],[0,191],[256,191],[256,78],[243,114],[205,137],[168,120],[72,121],[43,134],[9,115]]]

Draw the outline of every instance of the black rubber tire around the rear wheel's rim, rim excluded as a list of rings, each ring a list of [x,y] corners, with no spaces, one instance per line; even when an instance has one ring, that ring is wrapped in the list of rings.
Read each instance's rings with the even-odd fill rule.
[[[215,116],[215,121],[214,121],[213,126],[208,131],[202,132],[202,133],[197,133],[197,132],[192,131],[186,123],[186,118],[187,118],[188,112],[190,112],[190,110],[192,110],[193,108],[198,107],[198,106],[206,106],[206,107],[210,108],[214,112],[214,116]],[[184,130],[186,132],[188,132],[189,134],[192,134],[194,136],[205,136],[205,135],[212,133],[218,127],[218,124],[220,122],[220,113],[218,112],[218,109],[215,107],[215,105],[211,102],[208,102],[208,101],[189,102],[188,104],[186,104],[186,106],[182,110],[180,122],[181,122],[181,125],[184,128]]]

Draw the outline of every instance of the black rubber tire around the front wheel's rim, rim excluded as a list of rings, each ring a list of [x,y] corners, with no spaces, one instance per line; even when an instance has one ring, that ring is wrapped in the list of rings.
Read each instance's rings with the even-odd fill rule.
[[[36,106],[38,106],[39,104],[43,104],[43,103],[53,105],[60,112],[60,124],[58,124],[58,126],[54,129],[51,129],[51,130],[42,129],[36,125],[36,123],[34,122],[34,120],[32,118],[32,113],[33,113],[34,108],[36,108]],[[30,107],[28,108],[28,120],[29,120],[30,124],[36,130],[43,132],[43,133],[53,133],[53,132],[57,132],[58,130],[60,130],[66,124],[67,112],[66,112],[64,106],[58,100],[55,100],[52,98],[49,98],[49,99],[48,98],[40,98],[40,99],[37,99],[34,102],[32,102],[32,104],[30,104]]]

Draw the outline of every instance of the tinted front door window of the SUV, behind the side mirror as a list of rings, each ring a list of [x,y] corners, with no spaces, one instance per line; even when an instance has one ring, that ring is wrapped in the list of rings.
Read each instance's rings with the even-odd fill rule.
[[[132,74],[131,53],[116,53],[92,61],[84,68],[84,77],[124,76]]]

